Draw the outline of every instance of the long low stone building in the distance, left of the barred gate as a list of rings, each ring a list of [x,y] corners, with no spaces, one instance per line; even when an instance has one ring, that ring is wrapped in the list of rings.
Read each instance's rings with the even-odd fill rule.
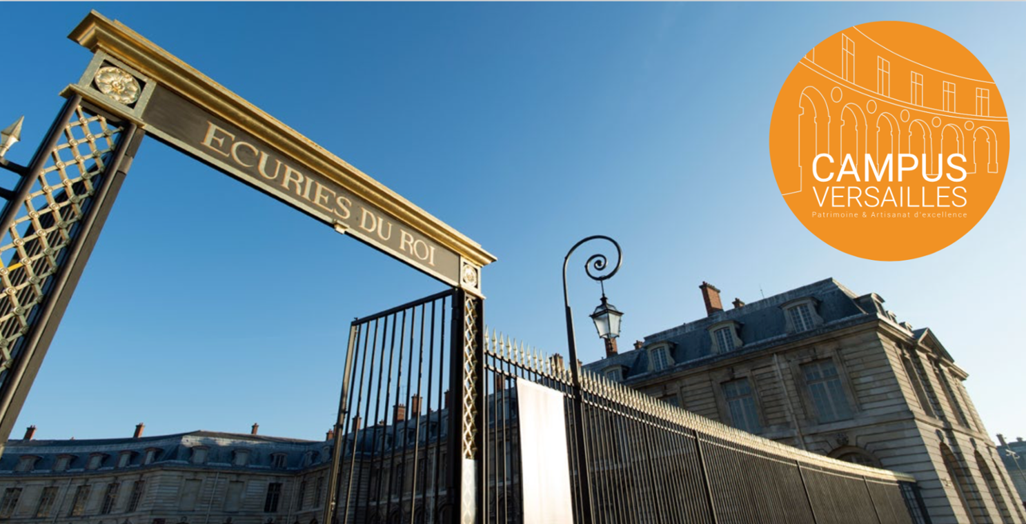
[[[62,524],[317,524],[330,441],[196,431],[10,440],[0,519]]]

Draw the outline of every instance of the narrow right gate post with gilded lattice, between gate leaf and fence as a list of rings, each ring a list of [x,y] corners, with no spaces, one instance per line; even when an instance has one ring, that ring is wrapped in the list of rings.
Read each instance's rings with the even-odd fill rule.
[[[452,300],[451,405],[448,438],[448,493],[451,522],[476,524],[484,515],[481,452],[486,421],[482,366],[484,299],[458,289]],[[459,334],[459,335],[458,335]],[[458,397],[459,395],[459,397]],[[459,512],[459,513],[456,513]]]

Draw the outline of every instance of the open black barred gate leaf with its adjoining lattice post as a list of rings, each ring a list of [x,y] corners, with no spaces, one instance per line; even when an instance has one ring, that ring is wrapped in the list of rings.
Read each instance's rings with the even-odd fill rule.
[[[479,309],[453,289],[353,321],[324,522],[473,522]]]

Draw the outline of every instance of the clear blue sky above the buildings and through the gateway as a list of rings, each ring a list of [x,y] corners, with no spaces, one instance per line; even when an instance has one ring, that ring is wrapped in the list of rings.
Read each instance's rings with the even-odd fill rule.
[[[579,239],[625,251],[609,280],[621,346],[705,315],[709,281],[752,301],[834,277],[931,327],[970,373],[991,436],[1026,437],[1019,153],[1022,4],[0,3],[0,127],[25,163],[90,54],[94,8],[306,134],[499,257],[489,326],[564,352],[560,267]],[[972,50],[1009,112],[989,213],[954,245],[878,263],[824,244],[787,208],[767,134],[784,79],[824,38],[898,19]],[[586,361],[598,286],[570,296]],[[192,430],[321,439],[349,322],[443,289],[156,140],[145,142],[13,437]]]

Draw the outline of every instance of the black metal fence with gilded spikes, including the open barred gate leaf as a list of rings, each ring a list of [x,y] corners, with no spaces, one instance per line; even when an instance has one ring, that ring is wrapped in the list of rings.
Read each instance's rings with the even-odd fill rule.
[[[523,522],[537,501],[521,482],[517,378],[562,395],[566,439],[552,445],[569,457],[578,524],[924,522],[907,475],[749,435],[583,369],[575,401],[560,356],[497,334],[468,340],[466,309],[452,290],[353,322],[325,522]]]

